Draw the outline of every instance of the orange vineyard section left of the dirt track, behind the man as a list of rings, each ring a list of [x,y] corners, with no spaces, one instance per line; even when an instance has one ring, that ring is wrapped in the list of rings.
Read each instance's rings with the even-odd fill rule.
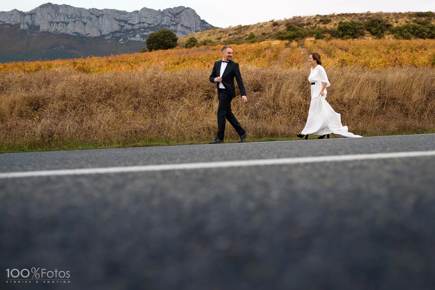
[[[239,64],[270,67],[284,48],[284,42],[277,44],[256,43],[233,45],[233,59]],[[109,57],[86,57],[55,61],[13,62],[0,64],[1,71],[34,72],[73,67],[85,73],[109,71],[136,71],[144,67],[162,66],[167,71],[184,68],[212,67],[222,57],[221,46],[203,46],[190,49],[171,49],[135,54],[112,55]]]

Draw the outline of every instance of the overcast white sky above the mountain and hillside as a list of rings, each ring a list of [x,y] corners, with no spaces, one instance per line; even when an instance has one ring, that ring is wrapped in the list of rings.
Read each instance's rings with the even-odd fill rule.
[[[218,27],[247,25],[271,19],[330,13],[435,11],[435,0],[16,0],[0,1],[0,11],[30,11],[43,3],[67,4],[74,7],[117,9],[128,12],[143,7],[163,10],[177,6],[191,7],[201,19]],[[310,4],[308,4],[310,3]]]

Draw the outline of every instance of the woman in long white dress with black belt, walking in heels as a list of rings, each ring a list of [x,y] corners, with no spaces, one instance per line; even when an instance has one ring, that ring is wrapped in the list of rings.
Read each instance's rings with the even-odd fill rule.
[[[325,69],[321,66],[320,54],[317,52],[310,54],[308,62],[312,65],[308,81],[311,83],[311,103],[308,110],[307,123],[304,130],[297,136],[308,139],[309,134],[320,135],[323,139],[329,134],[338,138],[362,137],[348,132],[348,126],[341,125],[341,116],[336,113],[331,105],[325,100],[326,88],[331,84],[328,81]]]

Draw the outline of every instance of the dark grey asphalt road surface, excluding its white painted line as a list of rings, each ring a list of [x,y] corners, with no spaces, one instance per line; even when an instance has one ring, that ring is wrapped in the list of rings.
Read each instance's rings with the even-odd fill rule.
[[[434,134],[18,153],[0,172],[431,150]],[[434,172],[431,155],[0,178],[0,285],[434,289]],[[70,277],[7,280],[32,267]]]

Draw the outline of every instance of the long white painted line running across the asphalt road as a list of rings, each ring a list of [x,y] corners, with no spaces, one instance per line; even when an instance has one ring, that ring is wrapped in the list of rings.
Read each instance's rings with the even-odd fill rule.
[[[235,160],[235,161],[217,161],[217,162],[196,162],[196,163],[161,164],[161,165],[136,165],[136,166],[118,166],[118,167],[101,167],[101,168],[3,172],[0,173],[0,179],[36,177],[36,176],[85,175],[85,174],[105,174],[105,173],[121,173],[121,172],[186,170],[186,169],[211,169],[211,168],[224,168],[224,167],[301,164],[301,163],[316,163],[316,162],[341,162],[341,161],[355,161],[355,160],[410,158],[410,157],[426,157],[426,156],[435,156],[435,150]]]

